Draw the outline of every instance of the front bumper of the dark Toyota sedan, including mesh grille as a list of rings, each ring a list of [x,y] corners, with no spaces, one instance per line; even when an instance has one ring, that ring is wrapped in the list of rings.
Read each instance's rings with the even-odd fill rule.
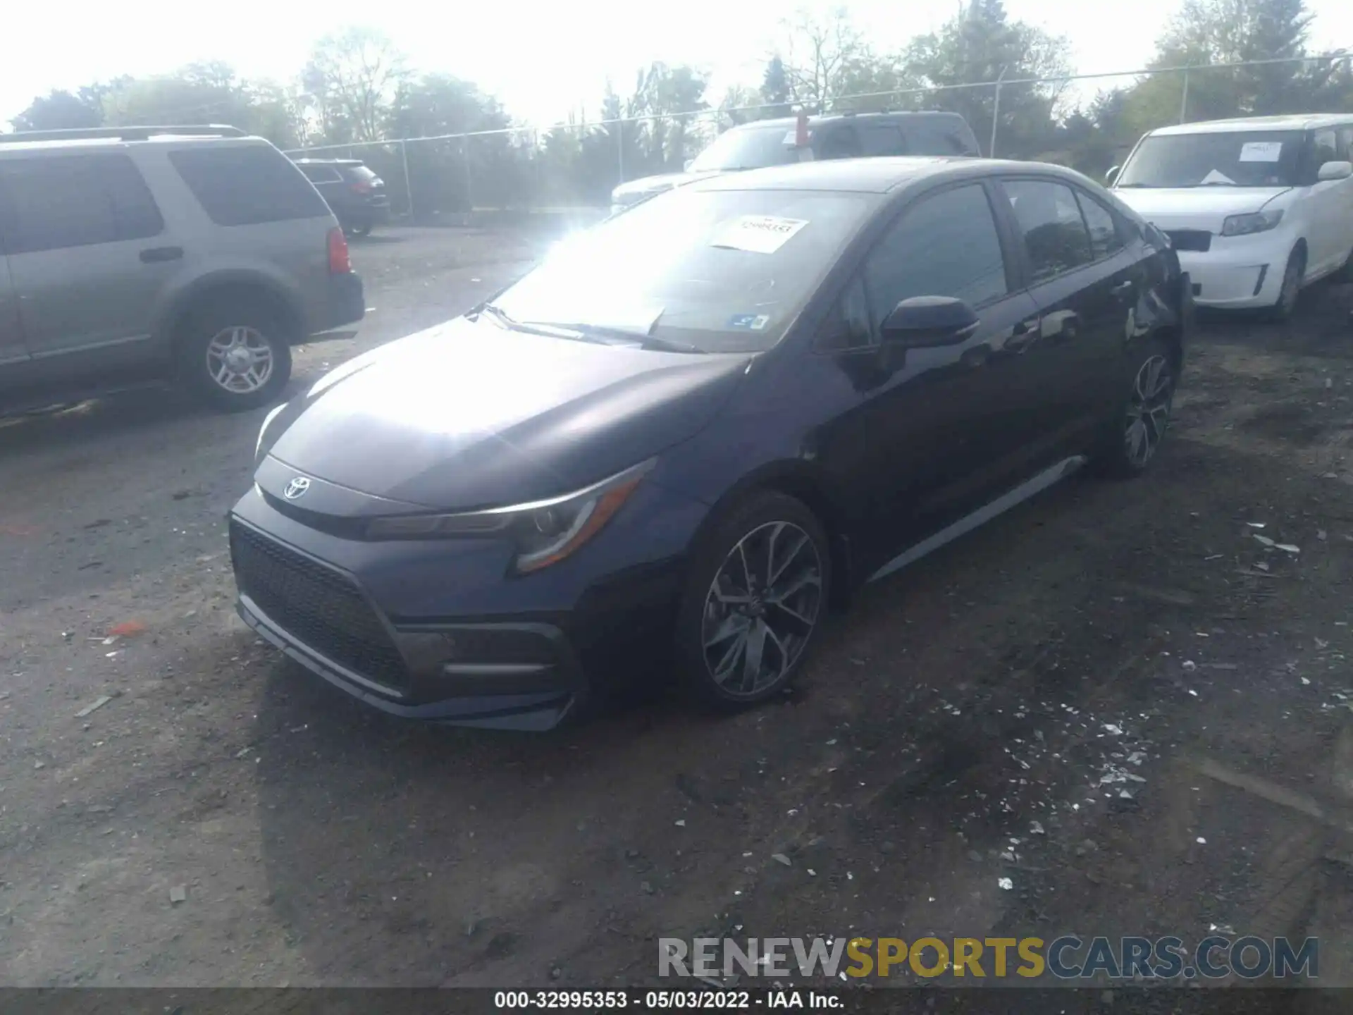
[[[636,508],[636,524],[653,514]],[[230,549],[237,610],[260,636],[383,712],[457,725],[548,729],[598,683],[649,675],[679,587],[675,559],[505,579],[491,545],[352,540],[257,490],[230,517]]]

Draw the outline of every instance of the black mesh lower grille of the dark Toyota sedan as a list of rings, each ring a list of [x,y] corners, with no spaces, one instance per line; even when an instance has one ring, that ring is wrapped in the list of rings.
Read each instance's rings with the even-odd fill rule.
[[[407,685],[403,658],[352,579],[237,521],[230,558],[239,591],[303,646],[391,690]]]

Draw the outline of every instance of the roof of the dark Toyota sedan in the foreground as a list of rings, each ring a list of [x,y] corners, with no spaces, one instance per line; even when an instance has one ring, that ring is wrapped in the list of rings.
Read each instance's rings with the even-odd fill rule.
[[[839,191],[854,194],[888,194],[900,187],[934,177],[988,176],[994,172],[1050,173],[1068,180],[1082,180],[1065,166],[1046,162],[1015,162],[1004,158],[969,156],[875,156],[871,158],[827,158],[792,162],[764,169],[712,176],[689,184],[702,191]],[[685,189],[685,188],[683,188]]]

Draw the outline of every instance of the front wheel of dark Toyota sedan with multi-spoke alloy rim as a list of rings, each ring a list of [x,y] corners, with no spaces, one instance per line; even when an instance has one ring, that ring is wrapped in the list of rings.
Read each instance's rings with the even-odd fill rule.
[[[700,702],[732,712],[781,693],[827,614],[831,552],[817,517],[764,490],[695,551],[676,618],[676,664]]]

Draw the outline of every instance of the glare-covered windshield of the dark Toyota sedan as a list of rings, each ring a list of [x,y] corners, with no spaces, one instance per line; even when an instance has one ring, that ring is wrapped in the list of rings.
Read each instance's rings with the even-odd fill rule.
[[[783,336],[877,198],[676,189],[559,244],[494,300],[513,321],[755,352]]]

